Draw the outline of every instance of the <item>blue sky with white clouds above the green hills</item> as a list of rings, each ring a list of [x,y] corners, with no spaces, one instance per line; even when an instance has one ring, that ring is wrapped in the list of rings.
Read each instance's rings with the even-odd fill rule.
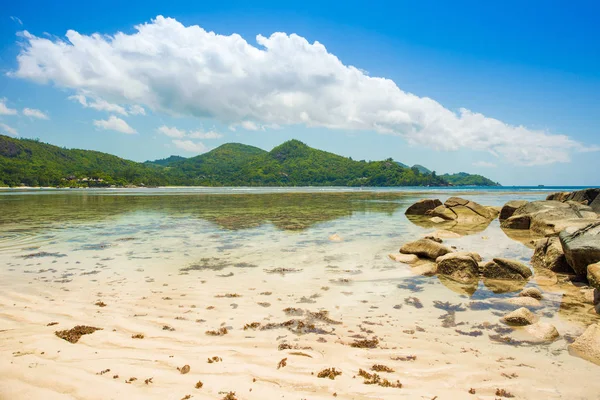
[[[295,138],[503,185],[598,186],[594,1],[0,9],[0,134],[135,161]]]

